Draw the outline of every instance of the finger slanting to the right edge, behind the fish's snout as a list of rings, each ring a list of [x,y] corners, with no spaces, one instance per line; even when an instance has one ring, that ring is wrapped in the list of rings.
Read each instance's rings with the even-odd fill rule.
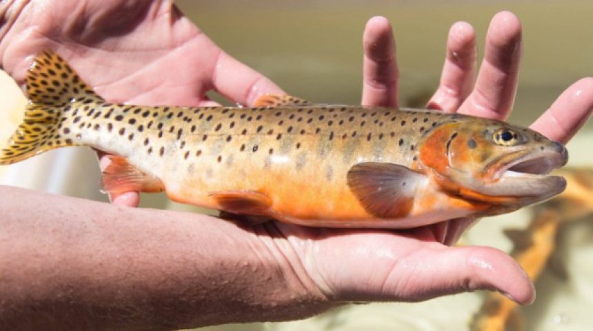
[[[593,112],[593,77],[567,88],[531,128],[555,141],[567,143]]]

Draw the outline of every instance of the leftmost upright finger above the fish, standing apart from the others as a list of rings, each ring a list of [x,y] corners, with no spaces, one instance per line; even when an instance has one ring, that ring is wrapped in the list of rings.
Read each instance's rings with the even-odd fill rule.
[[[363,34],[363,106],[397,107],[398,70],[388,19],[370,19]]]

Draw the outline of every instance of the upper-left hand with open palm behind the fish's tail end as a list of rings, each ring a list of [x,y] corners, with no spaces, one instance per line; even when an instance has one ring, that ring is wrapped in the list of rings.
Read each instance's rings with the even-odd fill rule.
[[[205,93],[216,90],[251,105],[261,94],[283,94],[223,52],[172,3],[5,1],[0,4],[0,17],[7,21],[0,25],[0,66],[24,86],[32,57],[52,48],[101,97],[117,103],[211,106],[215,103]],[[108,162],[101,158],[103,168]],[[139,203],[138,192],[110,198],[116,205]]]

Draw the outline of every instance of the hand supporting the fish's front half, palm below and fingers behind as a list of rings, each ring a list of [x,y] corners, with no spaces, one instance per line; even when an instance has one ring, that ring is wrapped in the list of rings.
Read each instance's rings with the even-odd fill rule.
[[[397,66],[389,22],[371,19],[364,37],[363,100],[366,106],[397,105]],[[485,59],[474,83],[476,47],[468,23],[452,26],[441,83],[428,108],[505,119],[514,100],[521,57],[521,24],[501,12],[490,23]],[[593,79],[567,88],[532,128],[566,143],[593,110]],[[458,219],[408,231],[314,229],[270,223],[261,231],[274,247],[336,301],[418,301],[476,289],[503,292],[519,303],[534,288],[507,254],[485,247],[452,248],[472,223]],[[261,240],[270,241],[268,236]]]

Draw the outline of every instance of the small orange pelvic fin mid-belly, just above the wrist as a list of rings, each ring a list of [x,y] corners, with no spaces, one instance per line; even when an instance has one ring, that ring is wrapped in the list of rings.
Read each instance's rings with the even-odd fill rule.
[[[256,191],[225,191],[210,194],[222,210],[232,214],[262,215],[272,205],[272,199]]]

